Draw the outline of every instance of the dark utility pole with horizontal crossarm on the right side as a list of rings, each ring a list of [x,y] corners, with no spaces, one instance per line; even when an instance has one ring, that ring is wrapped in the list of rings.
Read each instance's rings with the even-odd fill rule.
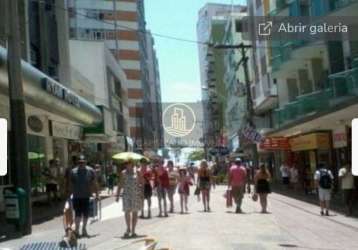
[[[252,48],[252,45],[245,45],[240,43],[239,45],[214,45],[215,49],[239,49],[241,51],[241,60],[238,63],[238,67],[242,64],[244,68],[244,76],[245,76],[245,88],[246,88],[246,98],[247,98],[247,116],[246,123],[253,129],[256,128],[254,123],[254,104],[251,96],[251,88],[250,88],[250,76],[249,76],[249,67],[248,67],[248,56],[246,55],[246,50]],[[257,152],[256,143],[251,143],[251,153],[253,157],[254,167],[257,168],[259,165],[259,154]]]

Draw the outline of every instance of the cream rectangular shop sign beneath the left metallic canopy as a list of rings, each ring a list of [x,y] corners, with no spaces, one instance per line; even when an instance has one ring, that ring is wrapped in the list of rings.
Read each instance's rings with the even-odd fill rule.
[[[82,137],[82,128],[80,126],[51,121],[50,134],[53,137],[79,140]]]

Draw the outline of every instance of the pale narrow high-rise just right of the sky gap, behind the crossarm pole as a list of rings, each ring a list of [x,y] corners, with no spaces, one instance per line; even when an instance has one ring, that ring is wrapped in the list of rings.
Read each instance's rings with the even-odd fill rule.
[[[222,122],[220,122],[220,120],[222,120],[223,107],[219,107],[222,103],[220,104],[218,102],[218,98],[220,97],[219,99],[221,100],[224,99],[222,92],[217,93],[217,90],[222,90],[223,86],[223,84],[217,84],[217,81],[222,83],[222,79],[216,78],[215,75],[217,73],[215,73],[213,69],[213,67],[215,67],[214,57],[215,55],[219,56],[219,53],[212,51],[205,43],[220,43],[223,38],[226,20],[229,18],[230,14],[232,12],[241,12],[243,9],[245,9],[245,7],[241,5],[232,6],[227,4],[208,3],[200,9],[198,14],[197,38],[201,43],[199,44],[198,50],[202,87],[203,139],[205,149],[207,149],[207,147],[216,146],[222,139],[222,131],[220,129],[220,127],[222,127]],[[215,27],[216,30],[221,30],[221,37],[219,34],[212,33],[213,27]],[[218,63],[216,63],[216,66],[221,67]],[[220,74],[222,75],[222,72]],[[217,77],[220,76],[218,75]]]

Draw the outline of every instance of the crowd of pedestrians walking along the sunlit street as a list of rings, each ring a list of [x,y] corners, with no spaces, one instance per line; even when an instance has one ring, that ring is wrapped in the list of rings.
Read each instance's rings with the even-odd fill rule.
[[[116,201],[122,199],[125,214],[126,231],[124,238],[136,237],[138,218],[152,218],[152,198],[158,200],[158,217],[168,217],[175,212],[175,195],[180,198],[180,214],[189,213],[188,197],[190,187],[195,186],[194,195],[203,204],[204,212],[211,212],[210,192],[215,187],[215,172],[213,166],[202,161],[198,169],[194,166],[175,166],[172,161],[166,164],[162,159],[151,163],[143,158],[139,162],[127,160],[121,163],[116,171],[108,174],[107,184],[109,194],[118,185],[115,193]],[[298,187],[298,170],[295,166],[282,165],[282,183],[294,189]],[[117,172],[117,173],[116,173]],[[51,173],[48,173],[51,176]],[[339,170],[341,187],[344,191],[347,214],[352,213],[354,180],[350,164]],[[318,190],[321,215],[329,215],[329,202],[333,188],[334,176],[324,164],[320,164],[313,179]],[[49,177],[49,180],[51,178]],[[268,195],[271,193],[271,173],[265,164],[253,170],[240,158],[232,159],[227,168],[226,204],[236,205],[235,212],[243,213],[242,201],[245,193],[249,193],[253,201],[259,200],[261,213],[268,213]],[[51,182],[49,182],[51,184]],[[75,214],[75,233],[79,235],[82,224],[82,235],[88,236],[86,225],[90,210],[90,197],[98,199],[98,178],[95,169],[86,164],[81,156],[78,165],[66,174],[66,191],[72,195],[72,206]],[[252,192],[251,192],[252,191]],[[147,214],[144,207],[146,206]],[[140,216],[139,216],[140,213]],[[145,216],[147,215],[147,216]]]

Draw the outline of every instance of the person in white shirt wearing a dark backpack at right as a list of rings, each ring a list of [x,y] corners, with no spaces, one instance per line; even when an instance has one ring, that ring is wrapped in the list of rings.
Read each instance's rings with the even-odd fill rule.
[[[333,188],[334,177],[327,167],[320,163],[314,175],[315,186],[318,188],[318,196],[321,207],[321,215],[329,216],[329,202]]]

